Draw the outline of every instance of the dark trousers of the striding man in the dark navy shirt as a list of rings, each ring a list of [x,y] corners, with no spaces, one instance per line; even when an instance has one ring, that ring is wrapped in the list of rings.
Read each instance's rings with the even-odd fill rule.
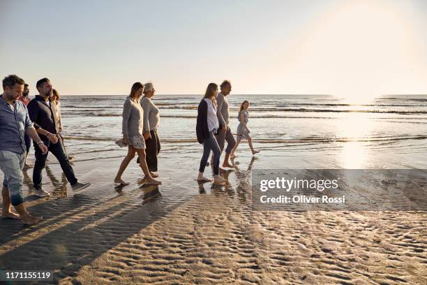
[[[58,138],[57,143],[52,143],[45,136],[40,136],[40,138],[43,140],[43,142],[45,142],[47,149],[49,149],[49,151],[52,152],[52,154],[58,159],[68,182],[70,182],[71,185],[77,183],[77,178],[74,175],[74,170],[70,165],[70,161],[68,161],[68,156],[65,149],[63,148],[61,139]],[[36,163],[34,163],[33,169],[33,184],[35,188],[38,188],[42,185],[41,173],[43,168],[46,166],[47,154],[42,154],[36,142],[34,142],[34,152],[36,154]]]

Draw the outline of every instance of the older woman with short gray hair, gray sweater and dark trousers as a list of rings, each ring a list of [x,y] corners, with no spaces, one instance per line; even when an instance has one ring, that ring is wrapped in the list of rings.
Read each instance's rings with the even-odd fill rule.
[[[144,85],[144,96],[141,98],[142,110],[144,110],[143,132],[145,138],[145,145],[147,147],[145,160],[150,170],[152,177],[158,177],[154,174],[158,171],[157,156],[160,152],[160,139],[158,138],[157,128],[160,124],[160,114],[157,106],[151,100],[154,96],[156,89],[151,82]]]

